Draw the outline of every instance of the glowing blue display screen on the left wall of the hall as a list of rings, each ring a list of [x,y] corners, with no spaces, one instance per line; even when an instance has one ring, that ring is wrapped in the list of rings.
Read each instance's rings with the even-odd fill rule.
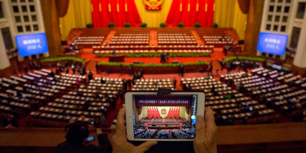
[[[20,57],[48,52],[45,33],[18,35],[16,36],[16,43]]]

